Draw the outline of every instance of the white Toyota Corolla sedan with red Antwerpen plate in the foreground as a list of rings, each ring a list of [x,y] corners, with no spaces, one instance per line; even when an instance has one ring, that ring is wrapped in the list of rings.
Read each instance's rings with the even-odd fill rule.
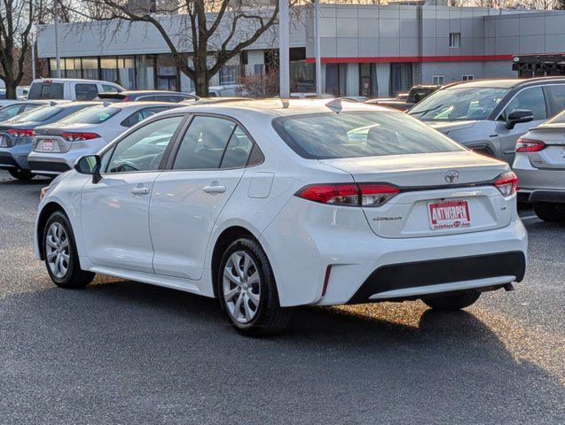
[[[55,284],[94,274],[215,297],[241,333],[294,305],[512,289],[526,264],[516,177],[410,116],[339,100],[170,110],[48,188],[36,255]]]

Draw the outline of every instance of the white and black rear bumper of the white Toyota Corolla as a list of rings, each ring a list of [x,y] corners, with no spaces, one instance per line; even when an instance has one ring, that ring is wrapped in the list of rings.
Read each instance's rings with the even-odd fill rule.
[[[523,278],[528,236],[515,211],[504,228],[382,238],[357,208],[300,207],[287,205],[260,236],[283,306],[414,299]]]

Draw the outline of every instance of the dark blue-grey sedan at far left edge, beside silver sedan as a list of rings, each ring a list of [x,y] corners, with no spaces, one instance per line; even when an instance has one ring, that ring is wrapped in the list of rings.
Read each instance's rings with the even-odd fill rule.
[[[51,124],[99,102],[63,102],[42,106],[0,123],[0,169],[20,180],[29,180],[31,173],[27,155],[32,150],[34,129]]]

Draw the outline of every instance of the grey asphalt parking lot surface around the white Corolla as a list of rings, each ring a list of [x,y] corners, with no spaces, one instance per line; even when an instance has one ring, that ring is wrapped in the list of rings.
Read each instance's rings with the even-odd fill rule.
[[[523,209],[524,282],[465,312],[301,308],[250,339],[212,299],[55,288],[32,246],[48,182],[0,172],[0,423],[565,423],[565,225]]]

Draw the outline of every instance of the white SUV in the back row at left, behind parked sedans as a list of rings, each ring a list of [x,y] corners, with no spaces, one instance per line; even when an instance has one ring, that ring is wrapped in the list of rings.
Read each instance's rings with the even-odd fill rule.
[[[98,80],[73,80],[69,78],[40,78],[29,87],[27,100],[65,99],[94,100],[98,93],[122,92],[125,89],[118,84]]]

